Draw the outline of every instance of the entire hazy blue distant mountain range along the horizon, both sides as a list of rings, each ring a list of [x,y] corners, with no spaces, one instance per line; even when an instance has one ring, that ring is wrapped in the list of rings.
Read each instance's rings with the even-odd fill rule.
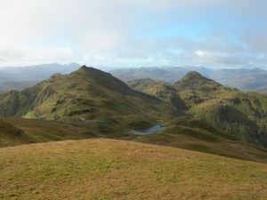
[[[69,74],[80,65],[70,63],[61,65],[58,63],[43,64],[28,67],[0,68],[0,93],[11,90],[22,90],[43,81],[44,79],[60,73]],[[101,68],[108,71],[112,68]],[[238,88],[239,90],[267,93],[267,71],[261,68],[239,69],[211,69],[205,67],[166,67],[166,68],[123,68],[111,70],[113,76],[129,81],[140,78],[151,78],[156,81],[164,81],[173,84],[180,80],[186,73],[197,71],[203,76],[211,78],[225,86]]]

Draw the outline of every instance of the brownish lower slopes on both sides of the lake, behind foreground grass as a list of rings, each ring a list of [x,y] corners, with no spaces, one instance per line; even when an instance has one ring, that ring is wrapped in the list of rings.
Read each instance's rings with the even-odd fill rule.
[[[0,118],[0,120],[1,124],[2,122],[9,124],[11,130],[7,132],[2,129],[0,148],[57,140],[111,138],[185,148],[214,155],[267,163],[267,152],[240,142],[228,133],[215,129],[203,121],[186,116],[174,118],[174,120],[165,123],[166,128],[162,132],[148,136],[136,136],[127,133],[136,127],[142,129],[152,125],[146,121],[134,122],[135,119],[132,120],[134,123],[129,124],[128,127],[114,127],[114,124],[103,121],[62,122],[19,117],[6,117]],[[23,134],[17,135],[16,130],[23,131]]]

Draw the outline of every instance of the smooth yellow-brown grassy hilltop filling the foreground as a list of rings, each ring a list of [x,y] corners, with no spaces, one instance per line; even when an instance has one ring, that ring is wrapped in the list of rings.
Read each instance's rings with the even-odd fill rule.
[[[3,199],[266,199],[267,166],[94,139],[0,149]]]

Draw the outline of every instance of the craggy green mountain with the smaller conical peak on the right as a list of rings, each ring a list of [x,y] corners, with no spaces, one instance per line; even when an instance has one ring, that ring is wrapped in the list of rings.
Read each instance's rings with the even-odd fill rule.
[[[267,148],[266,95],[225,87],[197,72],[189,72],[173,85],[158,83],[139,87],[142,92],[182,108],[239,140]]]

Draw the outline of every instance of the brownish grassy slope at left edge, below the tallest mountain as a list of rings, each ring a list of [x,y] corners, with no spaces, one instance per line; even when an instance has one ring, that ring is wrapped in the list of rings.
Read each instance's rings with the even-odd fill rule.
[[[45,121],[20,117],[0,118],[0,148],[57,140],[104,137],[77,122]],[[112,134],[106,137],[112,137]]]

